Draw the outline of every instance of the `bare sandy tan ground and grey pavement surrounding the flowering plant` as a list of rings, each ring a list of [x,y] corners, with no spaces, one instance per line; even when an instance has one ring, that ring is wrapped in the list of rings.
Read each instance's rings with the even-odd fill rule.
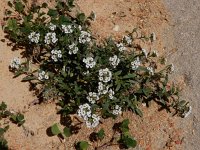
[[[40,0],[42,1],[42,0]],[[47,1],[47,0],[46,0]],[[0,20],[6,0],[0,6]],[[47,1],[48,2],[48,1]],[[198,47],[200,37],[200,2],[192,0],[170,1],[164,0],[77,0],[79,10],[89,15],[96,14],[96,20],[91,23],[94,36],[102,40],[108,36],[121,38],[126,31],[138,27],[142,32],[155,32],[157,41],[153,45],[140,43],[146,49],[156,49],[160,55],[167,57],[168,62],[175,64],[175,73],[171,76],[177,84],[183,86],[182,97],[190,101],[193,113],[186,119],[172,117],[166,111],[158,111],[154,103],[149,108],[141,106],[144,117],[140,118],[131,112],[125,112],[116,120],[103,120],[94,131],[105,129],[106,138],[94,146],[100,146],[112,136],[112,124],[124,118],[129,118],[131,134],[137,139],[136,149],[163,150],[163,149],[200,149],[198,147],[200,114],[197,111],[199,101],[198,79],[200,64]],[[0,39],[4,33],[0,29]],[[44,103],[31,105],[36,97],[29,91],[27,83],[20,82],[20,77],[13,79],[8,66],[13,57],[20,56],[20,51],[11,51],[6,42],[0,42],[0,102],[5,101],[10,110],[22,112],[25,115],[24,128],[10,124],[6,133],[8,144],[13,150],[25,149],[74,149],[77,140],[87,140],[93,131],[84,125],[78,134],[70,137],[66,142],[58,137],[49,137],[47,129],[60,121],[56,114],[56,105]],[[192,137],[192,138],[191,138]],[[103,147],[102,149],[117,149],[117,147]]]

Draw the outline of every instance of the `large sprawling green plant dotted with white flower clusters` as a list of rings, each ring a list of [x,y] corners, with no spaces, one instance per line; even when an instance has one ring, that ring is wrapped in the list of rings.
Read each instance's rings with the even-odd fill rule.
[[[60,113],[77,113],[92,128],[101,118],[115,118],[124,110],[142,116],[138,105],[150,101],[181,116],[189,111],[177,88],[169,86],[173,65],[164,66],[156,51],[134,43],[154,42],[154,33],[139,36],[134,29],[120,41],[108,38],[99,44],[89,30],[95,14],[72,15],[73,0],[57,0],[55,8],[26,0],[8,5],[4,31],[14,48],[24,49],[23,62],[14,58],[10,70],[15,77],[24,74],[22,81],[30,82],[38,98],[59,100]],[[159,63],[163,67],[158,70]],[[56,125],[53,131],[65,136]],[[126,136],[121,138],[126,142]]]

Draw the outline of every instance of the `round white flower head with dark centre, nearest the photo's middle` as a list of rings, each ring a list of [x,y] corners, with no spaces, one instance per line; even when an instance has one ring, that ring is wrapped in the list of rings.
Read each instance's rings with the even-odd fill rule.
[[[112,72],[108,68],[99,70],[100,81],[107,83],[111,80],[111,78],[112,78]]]

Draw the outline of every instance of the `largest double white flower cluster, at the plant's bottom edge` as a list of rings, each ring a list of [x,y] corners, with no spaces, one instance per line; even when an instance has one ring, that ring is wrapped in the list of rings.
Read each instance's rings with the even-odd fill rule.
[[[79,106],[78,116],[86,121],[86,126],[88,128],[96,127],[100,121],[100,116],[92,114],[91,106],[87,103]]]

